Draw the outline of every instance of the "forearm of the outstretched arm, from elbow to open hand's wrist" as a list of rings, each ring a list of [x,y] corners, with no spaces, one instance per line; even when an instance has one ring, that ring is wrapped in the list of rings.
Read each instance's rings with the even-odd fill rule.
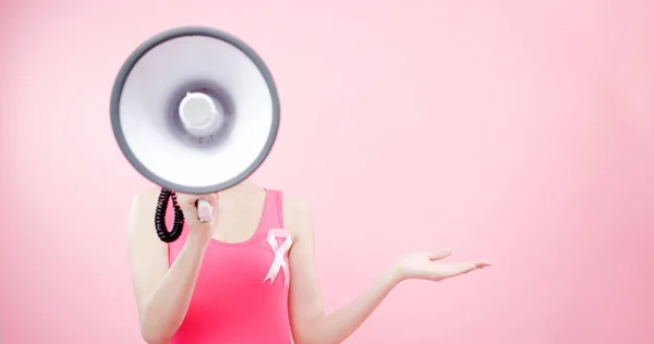
[[[330,315],[307,321],[296,344],[337,344],[349,337],[401,281],[395,268],[388,269],[350,305]]]

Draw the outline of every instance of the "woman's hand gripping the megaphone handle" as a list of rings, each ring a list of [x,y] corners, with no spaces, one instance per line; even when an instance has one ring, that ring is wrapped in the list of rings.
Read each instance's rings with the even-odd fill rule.
[[[218,196],[216,194],[191,195],[177,193],[178,204],[184,213],[184,220],[191,228],[191,233],[199,234],[203,239],[210,239],[216,231],[218,213]],[[210,206],[210,220],[201,221],[198,204],[206,200]],[[202,208],[202,205],[199,205]],[[201,209],[202,211],[202,209]]]

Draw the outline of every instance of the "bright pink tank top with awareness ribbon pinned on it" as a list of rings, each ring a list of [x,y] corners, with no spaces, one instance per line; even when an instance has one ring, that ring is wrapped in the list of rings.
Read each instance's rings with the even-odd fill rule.
[[[283,229],[281,200],[281,192],[266,189],[264,211],[250,239],[209,243],[189,311],[172,344],[292,343],[288,312],[292,241]],[[185,226],[182,236],[169,244],[170,263],[189,232]]]

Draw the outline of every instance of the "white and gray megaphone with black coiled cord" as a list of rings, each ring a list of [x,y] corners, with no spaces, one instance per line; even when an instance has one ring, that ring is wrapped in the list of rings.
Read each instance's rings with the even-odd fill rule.
[[[110,115],[128,161],[161,186],[155,226],[170,243],[184,222],[175,192],[229,188],[266,159],[279,128],[279,96],[270,71],[244,41],[216,28],[178,27],[128,57],[113,84]],[[201,199],[197,210],[201,221],[210,220],[208,201]]]

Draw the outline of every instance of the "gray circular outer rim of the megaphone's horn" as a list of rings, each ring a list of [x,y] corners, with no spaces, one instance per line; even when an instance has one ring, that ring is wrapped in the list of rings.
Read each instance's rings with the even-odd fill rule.
[[[268,136],[268,139],[266,140],[266,144],[264,146],[264,149],[261,151],[258,157],[254,160],[254,162],[252,164],[250,164],[250,167],[247,169],[245,169],[239,175],[232,177],[229,181],[226,181],[226,182],[222,182],[219,184],[215,184],[215,185],[209,185],[209,186],[194,187],[194,186],[187,186],[187,185],[180,185],[177,183],[172,183],[170,181],[166,181],[162,177],[160,177],[159,175],[157,175],[156,173],[154,173],[153,171],[150,171],[149,169],[147,169],[143,163],[141,163],[141,161],[138,161],[138,159],[136,159],[136,157],[134,156],[134,152],[128,145],[128,142],[125,140],[125,137],[122,132],[121,123],[120,123],[119,108],[120,108],[120,99],[122,96],[123,86],[124,86],[125,81],[128,79],[128,76],[130,75],[130,72],[136,64],[136,62],[138,62],[138,60],[141,60],[141,58],[145,53],[147,53],[150,49],[153,49],[154,47],[156,47],[167,40],[178,38],[178,37],[183,37],[183,36],[214,37],[214,38],[227,41],[227,42],[231,44],[232,46],[237,47],[238,49],[240,49],[241,51],[243,51],[243,53],[245,53],[254,62],[254,64],[257,66],[257,69],[264,76],[264,79],[266,81],[266,84],[268,85],[268,89],[270,91],[270,98],[272,100],[272,124],[270,127],[270,135]],[[166,32],[162,32],[158,35],[150,37],[148,40],[141,44],[130,54],[130,57],[128,57],[128,59],[125,60],[125,62],[123,63],[122,67],[120,69],[120,71],[118,73],[118,76],[113,83],[113,89],[111,91],[111,106],[110,106],[111,127],[113,130],[113,136],[116,137],[116,140],[118,142],[118,146],[120,147],[121,151],[123,152],[125,158],[130,161],[130,163],[136,169],[136,171],[138,171],[138,173],[141,173],[143,176],[148,179],[150,182],[156,183],[164,188],[168,188],[168,189],[180,192],[180,193],[186,193],[186,194],[209,194],[209,193],[219,192],[219,191],[222,191],[222,189],[226,189],[233,185],[239,184],[243,180],[247,179],[252,173],[254,173],[262,165],[264,160],[266,160],[266,157],[270,153],[270,150],[272,149],[272,146],[277,138],[277,133],[279,131],[279,121],[280,121],[279,111],[280,111],[279,94],[277,91],[277,86],[275,85],[275,81],[272,79],[272,74],[268,70],[268,66],[264,63],[264,60],[254,51],[254,49],[252,49],[250,46],[247,46],[244,41],[242,41],[238,37],[231,35],[231,34],[228,34],[226,32],[219,30],[217,28],[211,28],[211,27],[206,27],[206,26],[184,26],[184,27],[177,27],[177,28],[168,29]]]

